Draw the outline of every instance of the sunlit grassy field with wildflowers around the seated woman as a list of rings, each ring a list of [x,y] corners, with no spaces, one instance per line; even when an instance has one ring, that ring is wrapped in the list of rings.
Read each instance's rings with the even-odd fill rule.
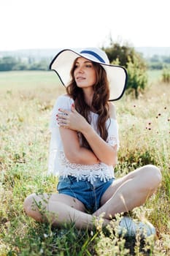
[[[147,89],[125,95],[117,108],[120,127],[116,176],[136,167],[161,167],[163,181],[144,206],[131,213],[156,227],[156,238],[118,238],[112,230],[54,229],[26,216],[23,200],[31,192],[55,192],[47,176],[50,112],[64,92],[54,72],[0,72],[0,255],[170,255],[170,84],[150,72]]]

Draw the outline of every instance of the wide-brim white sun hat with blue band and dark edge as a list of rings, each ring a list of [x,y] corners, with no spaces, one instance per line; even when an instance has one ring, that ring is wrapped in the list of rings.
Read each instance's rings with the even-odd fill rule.
[[[53,61],[50,63],[50,69],[57,73],[61,83],[63,83],[63,86],[67,86],[71,80],[70,71],[74,60],[78,57],[83,57],[101,64],[101,66],[106,70],[107,79],[109,80],[110,101],[120,99],[123,96],[127,83],[127,72],[125,68],[109,64],[107,54],[104,50],[98,48],[86,48],[79,51],[64,49],[55,56]]]

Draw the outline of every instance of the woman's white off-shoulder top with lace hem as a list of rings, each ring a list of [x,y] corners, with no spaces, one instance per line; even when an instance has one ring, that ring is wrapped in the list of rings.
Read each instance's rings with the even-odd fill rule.
[[[69,160],[65,157],[59,127],[56,121],[56,114],[58,113],[58,108],[71,110],[71,105],[73,102],[74,100],[66,95],[59,96],[57,101],[55,102],[50,120],[51,140],[48,174],[54,174],[63,177],[74,176],[77,178],[77,181],[81,179],[88,179],[91,184],[93,184],[93,181],[95,181],[96,178],[100,178],[101,181],[105,182],[109,180],[109,178],[114,177],[114,169],[112,166],[106,165],[103,162],[94,165],[74,164],[69,162]],[[90,124],[93,129],[96,130],[98,114],[91,112],[90,115]],[[111,146],[117,145],[118,148],[119,139],[117,121],[113,118],[108,120],[107,128],[107,143],[109,143]]]

